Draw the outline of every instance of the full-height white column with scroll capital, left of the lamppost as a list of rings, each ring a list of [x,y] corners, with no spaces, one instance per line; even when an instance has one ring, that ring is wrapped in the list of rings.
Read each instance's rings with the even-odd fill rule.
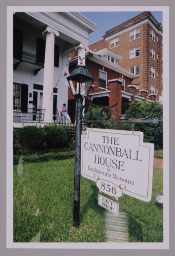
[[[44,122],[53,122],[53,75],[54,75],[54,46],[55,36],[59,33],[52,27],[46,27],[45,41],[45,66],[44,66],[44,82],[43,82],[43,109],[45,109]],[[51,96],[52,95],[52,96]]]

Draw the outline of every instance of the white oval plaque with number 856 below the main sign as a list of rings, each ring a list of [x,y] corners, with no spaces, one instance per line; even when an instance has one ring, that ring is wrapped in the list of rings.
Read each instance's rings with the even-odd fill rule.
[[[104,192],[107,195],[111,195],[114,197],[121,197],[123,195],[122,189],[120,189],[117,185],[112,182],[105,180],[97,180],[96,182],[97,188]]]

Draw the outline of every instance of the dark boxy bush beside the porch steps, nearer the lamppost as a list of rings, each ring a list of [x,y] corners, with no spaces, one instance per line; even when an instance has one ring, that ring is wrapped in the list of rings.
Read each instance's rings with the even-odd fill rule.
[[[50,124],[44,127],[45,142],[48,148],[62,148],[69,146],[69,132],[70,128],[67,126],[58,126],[57,124]]]

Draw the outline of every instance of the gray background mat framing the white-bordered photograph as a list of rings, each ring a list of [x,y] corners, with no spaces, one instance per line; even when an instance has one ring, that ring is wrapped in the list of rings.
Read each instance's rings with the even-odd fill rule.
[[[136,5],[169,6],[170,9],[170,102],[169,113],[169,152],[170,152],[170,249],[6,249],[6,7],[7,6],[99,6],[99,5]],[[0,255],[2,256],[172,256],[175,250],[175,1],[174,0],[1,0],[0,1]],[[165,88],[165,85],[164,85]],[[168,132],[168,131],[167,131]],[[167,166],[167,171],[169,167]],[[164,169],[166,172],[166,169]]]

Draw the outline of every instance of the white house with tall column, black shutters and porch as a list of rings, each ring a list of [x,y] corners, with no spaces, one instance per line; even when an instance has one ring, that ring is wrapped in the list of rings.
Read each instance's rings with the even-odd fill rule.
[[[14,127],[54,122],[68,101],[68,87],[58,80],[72,52],[85,60],[96,27],[78,12],[13,14]]]

